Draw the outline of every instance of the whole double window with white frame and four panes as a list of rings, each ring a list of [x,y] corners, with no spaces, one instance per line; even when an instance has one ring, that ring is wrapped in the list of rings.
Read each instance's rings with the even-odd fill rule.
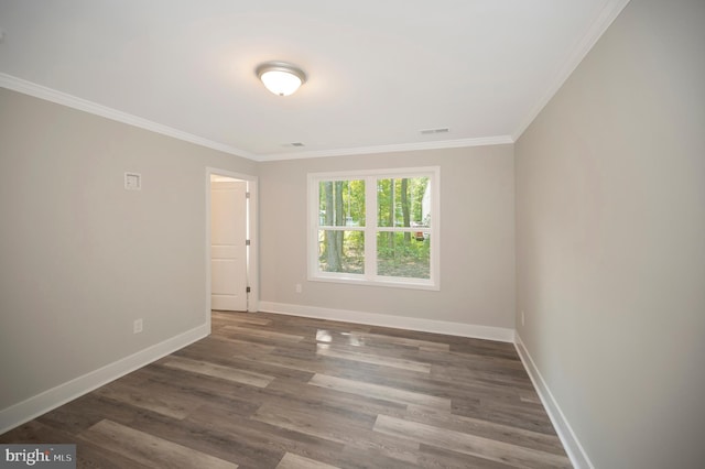
[[[308,277],[438,290],[438,167],[308,175]]]

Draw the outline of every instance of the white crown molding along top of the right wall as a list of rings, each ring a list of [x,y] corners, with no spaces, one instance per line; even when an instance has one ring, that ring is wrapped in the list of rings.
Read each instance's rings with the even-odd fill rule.
[[[517,131],[512,133],[512,140],[516,142],[524,133],[524,131],[531,126],[531,122],[539,116],[549,101],[558,92],[558,89],[568,79],[568,77],[575,72],[577,66],[583,62],[588,52],[607,31],[610,24],[619,17],[619,13],[627,7],[629,0],[608,0],[605,7],[600,10],[597,19],[593,22],[587,33],[583,36],[581,42],[568,54],[568,58],[558,70],[555,78],[550,81],[549,88],[543,94],[541,99],[536,101],[531,112],[521,121]]]

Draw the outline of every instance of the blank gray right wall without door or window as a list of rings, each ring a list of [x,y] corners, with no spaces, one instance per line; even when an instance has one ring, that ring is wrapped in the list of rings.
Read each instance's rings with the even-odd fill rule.
[[[632,0],[516,145],[519,335],[597,468],[705,460],[704,25]]]

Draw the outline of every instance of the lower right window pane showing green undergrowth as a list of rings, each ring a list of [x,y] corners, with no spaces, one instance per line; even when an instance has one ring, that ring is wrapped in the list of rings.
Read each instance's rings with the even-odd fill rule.
[[[429,232],[378,232],[377,273],[383,276],[431,279]]]

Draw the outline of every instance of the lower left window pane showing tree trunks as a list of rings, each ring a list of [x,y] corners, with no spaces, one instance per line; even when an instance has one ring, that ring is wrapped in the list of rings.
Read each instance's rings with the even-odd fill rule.
[[[318,270],[365,273],[365,232],[318,230]]]

